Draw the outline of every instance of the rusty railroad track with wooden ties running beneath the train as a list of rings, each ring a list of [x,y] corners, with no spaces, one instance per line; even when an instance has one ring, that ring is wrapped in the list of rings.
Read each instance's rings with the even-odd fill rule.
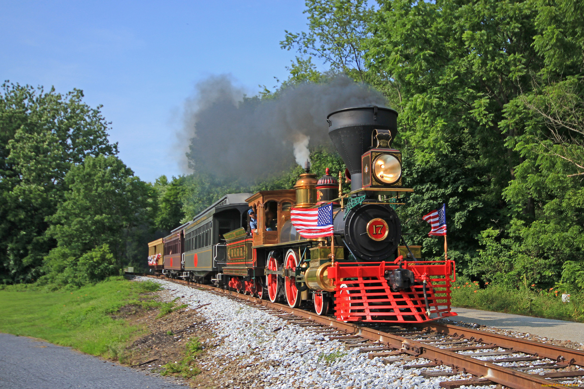
[[[450,367],[450,371],[426,370],[421,373],[426,378],[455,376],[461,372],[472,374],[472,378],[466,380],[443,381],[440,383],[443,388],[489,384],[515,389],[582,387],[562,382],[584,377],[584,351],[450,324],[412,323],[416,325],[413,331],[398,326],[384,327],[385,331],[381,331],[381,328],[345,323],[210,285],[152,275],[148,277],[207,289],[211,293],[272,311],[289,323],[311,327],[312,331],[328,334],[330,339],[345,342],[347,349],[359,348],[360,352],[369,353],[371,359],[380,357],[385,364],[425,358],[431,362],[403,367]],[[534,370],[541,371],[536,373]]]

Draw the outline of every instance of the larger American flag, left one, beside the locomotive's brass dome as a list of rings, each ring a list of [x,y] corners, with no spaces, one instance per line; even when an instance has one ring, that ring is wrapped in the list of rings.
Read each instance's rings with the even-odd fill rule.
[[[333,232],[332,204],[318,208],[292,208],[290,220],[304,238],[331,236]]]

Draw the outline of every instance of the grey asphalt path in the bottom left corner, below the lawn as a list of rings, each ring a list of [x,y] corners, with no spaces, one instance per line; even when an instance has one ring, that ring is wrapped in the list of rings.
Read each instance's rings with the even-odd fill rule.
[[[0,334],[2,389],[178,389],[144,373],[39,339]]]

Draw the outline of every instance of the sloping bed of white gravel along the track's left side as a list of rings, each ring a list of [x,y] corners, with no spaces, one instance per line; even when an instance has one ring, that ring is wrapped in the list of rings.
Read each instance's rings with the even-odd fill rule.
[[[191,309],[211,303],[197,309],[214,326],[217,341],[223,341],[221,347],[211,353],[241,359],[241,365],[255,366],[267,360],[277,363],[270,369],[260,371],[250,388],[437,389],[441,381],[470,377],[458,374],[425,379],[419,374],[428,369],[403,369],[402,366],[428,363],[429,360],[420,358],[384,365],[380,358],[369,359],[367,353],[360,353],[358,348],[346,351],[345,344],[338,340],[331,341],[305,327],[286,324],[286,320],[226,297],[169,281],[140,276],[136,279],[160,283],[174,297],[179,297],[180,303],[188,304]],[[252,351],[260,356],[250,355]],[[450,368],[444,366],[429,370],[449,371]]]

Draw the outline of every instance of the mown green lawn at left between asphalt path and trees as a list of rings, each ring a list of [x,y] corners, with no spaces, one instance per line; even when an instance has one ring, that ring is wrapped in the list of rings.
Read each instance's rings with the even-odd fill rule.
[[[0,290],[0,332],[41,338],[123,362],[126,343],[142,329],[112,314],[128,304],[161,305],[139,299],[140,293],[158,288],[154,282],[129,282],[123,277],[67,292],[8,286]]]

